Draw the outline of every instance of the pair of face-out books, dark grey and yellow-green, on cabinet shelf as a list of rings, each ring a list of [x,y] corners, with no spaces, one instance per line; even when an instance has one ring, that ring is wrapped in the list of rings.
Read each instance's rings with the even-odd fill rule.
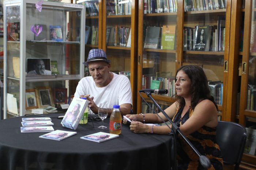
[[[147,26],[144,48],[161,48],[174,50],[176,25],[163,25],[162,27]]]

